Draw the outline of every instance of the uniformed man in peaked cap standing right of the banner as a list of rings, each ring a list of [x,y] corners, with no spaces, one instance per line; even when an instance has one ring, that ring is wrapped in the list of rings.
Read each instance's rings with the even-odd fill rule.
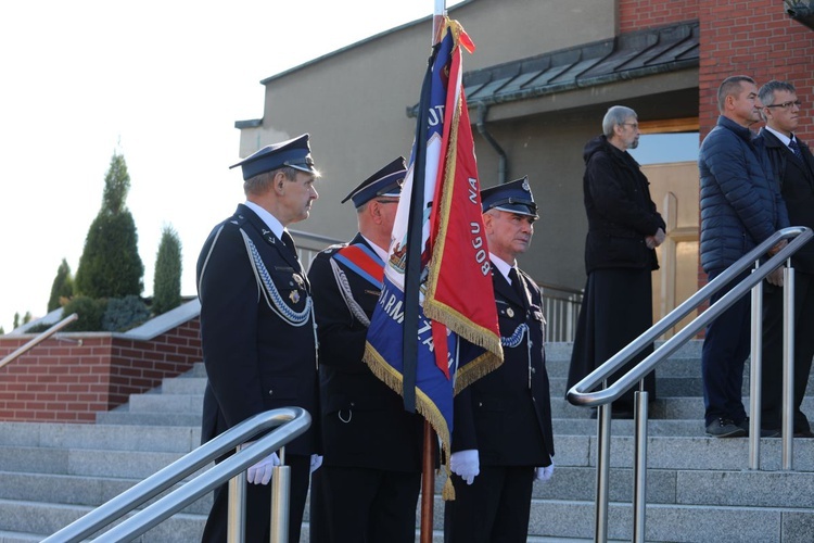
[[[540,292],[516,265],[537,219],[526,178],[481,191],[504,364],[455,399],[446,542],[525,542],[532,488],[554,472]]]

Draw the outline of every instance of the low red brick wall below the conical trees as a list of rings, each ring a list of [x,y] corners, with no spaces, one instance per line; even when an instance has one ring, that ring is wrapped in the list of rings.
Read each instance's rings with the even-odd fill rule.
[[[0,368],[0,420],[93,422],[201,362],[199,318],[150,341],[112,333],[49,338]],[[34,334],[0,336],[0,358]]]

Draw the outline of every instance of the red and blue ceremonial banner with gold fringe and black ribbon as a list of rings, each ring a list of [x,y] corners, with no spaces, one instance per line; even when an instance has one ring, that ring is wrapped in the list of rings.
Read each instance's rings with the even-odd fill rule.
[[[474,45],[445,20],[421,89],[365,362],[430,421],[449,453],[453,396],[503,363],[461,50]]]

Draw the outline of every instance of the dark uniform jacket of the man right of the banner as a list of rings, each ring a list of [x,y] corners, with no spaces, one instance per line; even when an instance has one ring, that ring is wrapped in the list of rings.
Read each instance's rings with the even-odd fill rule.
[[[525,300],[493,267],[504,364],[455,397],[451,450],[478,450],[482,466],[540,467],[554,456],[540,292],[520,277]]]

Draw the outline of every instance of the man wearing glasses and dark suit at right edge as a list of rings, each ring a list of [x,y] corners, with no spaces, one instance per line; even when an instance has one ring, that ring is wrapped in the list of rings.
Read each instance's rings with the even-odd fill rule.
[[[794,130],[800,123],[800,100],[794,86],[772,80],[759,91],[766,126],[758,136],[772,163],[775,181],[786,202],[789,223],[814,228],[814,157]],[[791,257],[794,266],[794,413],[797,437],[814,438],[800,411],[814,357],[814,244]],[[783,414],[783,288],[763,289],[763,393],[761,427],[779,432]]]

